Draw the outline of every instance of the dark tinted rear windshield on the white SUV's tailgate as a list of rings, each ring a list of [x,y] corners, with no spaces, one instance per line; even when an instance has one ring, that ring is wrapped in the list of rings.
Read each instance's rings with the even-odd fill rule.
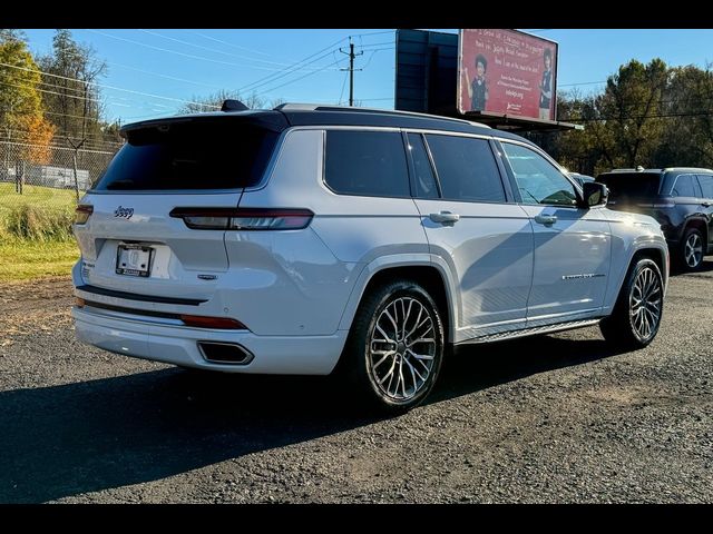
[[[238,189],[262,178],[279,134],[223,120],[128,132],[97,190]]]

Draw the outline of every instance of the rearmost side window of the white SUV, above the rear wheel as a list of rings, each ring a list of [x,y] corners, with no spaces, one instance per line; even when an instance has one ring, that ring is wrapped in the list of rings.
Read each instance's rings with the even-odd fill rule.
[[[401,134],[326,131],[324,180],[334,191],[367,197],[410,197]]]

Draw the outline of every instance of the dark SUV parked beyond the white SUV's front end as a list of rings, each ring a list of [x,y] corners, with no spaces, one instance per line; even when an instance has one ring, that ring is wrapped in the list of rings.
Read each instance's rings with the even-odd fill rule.
[[[611,209],[658,220],[681,269],[699,269],[713,253],[713,170],[638,167],[604,172],[597,181],[609,188]]]

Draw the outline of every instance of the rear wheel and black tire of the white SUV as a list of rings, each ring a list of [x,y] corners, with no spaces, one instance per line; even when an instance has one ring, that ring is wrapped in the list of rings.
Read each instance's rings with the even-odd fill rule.
[[[420,327],[416,326],[417,310],[421,313]],[[394,316],[395,323],[389,320],[387,313]],[[416,339],[432,342],[414,343]],[[431,359],[423,358],[431,356]],[[398,280],[364,295],[335,374],[346,386],[350,403],[399,414],[418,406],[428,396],[442,359],[443,325],[438,306],[420,285]]]

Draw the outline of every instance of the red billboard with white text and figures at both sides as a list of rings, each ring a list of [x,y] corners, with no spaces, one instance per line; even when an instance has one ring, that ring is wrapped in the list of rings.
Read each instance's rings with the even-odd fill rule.
[[[516,30],[460,30],[458,110],[555,120],[557,43]]]

